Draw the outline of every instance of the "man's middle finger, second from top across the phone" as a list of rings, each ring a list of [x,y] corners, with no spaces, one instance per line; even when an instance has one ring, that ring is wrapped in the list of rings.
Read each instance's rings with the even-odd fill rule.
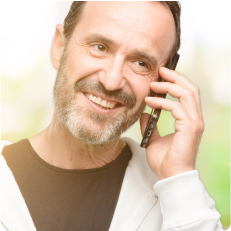
[[[192,118],[195,120],[200,119],[197,101],[192,90],[168,82],[152,82],[151,90],[160,94],[168,93],[172,97],[178,98],[179,102],[183,105],[186,111],[188,111]]]

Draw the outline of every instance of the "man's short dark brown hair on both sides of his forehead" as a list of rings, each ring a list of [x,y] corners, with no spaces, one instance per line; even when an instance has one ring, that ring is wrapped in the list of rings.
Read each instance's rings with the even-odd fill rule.
[[[172,62],[172,58],[174,54],[179,50],[180,48],[180,35],[181,35],[181,29],[180,29],[180,15],[181,15],[181,5],[178,1],[160,1],[160,3],[165,4],[169,7],[169,9],[172,12],[175,27],[176,27],[176,38],[175,43],[172,47],[172,50],[170,52],[169,59],[166,63],[166,67],[169,67]],[[64,20],[64,36],[66,43],[71,38],[71,35],[75,29],[75,26],[80,20],[80,16],[83,12],[84,5],[86,4],[86,1],[74,1],[71,4],[71,8]]]

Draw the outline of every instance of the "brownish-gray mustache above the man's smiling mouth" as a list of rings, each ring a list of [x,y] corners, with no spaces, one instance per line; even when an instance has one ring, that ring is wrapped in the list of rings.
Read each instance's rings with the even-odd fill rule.
[[[108,98],[113,98],[113,100],[122,102],[129,109],[132,109],[136,104],[136,97],[134,94],[124,92],[121,89],[108,91],[104,85],[100,82],[92,82],[85,78],[80,79],[75,83],[75,92],[80,91],[97,91],[98,93],[104,94]]]

